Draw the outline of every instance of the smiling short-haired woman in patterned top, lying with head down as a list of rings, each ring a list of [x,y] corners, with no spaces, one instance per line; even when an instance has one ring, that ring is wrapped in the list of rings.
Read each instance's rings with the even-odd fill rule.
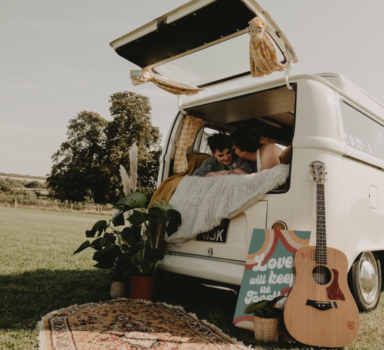
[[[214,133],[207,137],[211,156],[191,174],[191,176],[216,176],[230,173],[250,173],[252,164],[249,160],[239,159],[232,152],[232,142],[225,133]]]

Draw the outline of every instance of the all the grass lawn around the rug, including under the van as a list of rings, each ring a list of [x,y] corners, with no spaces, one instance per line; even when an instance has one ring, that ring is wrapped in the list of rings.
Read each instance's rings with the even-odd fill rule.
[[[93,268],[92,251],[71,256],[85,229],[100,215],[0,206],[0,348],[37,347],[37,321],[72,304],[108,300],[109,279]],[[164,276],[163,276],[164,277]],[[157,281],[156,301],[178,304],[256,349],[310,349],[299,343],[257,343],[231,325],[236,296],[198,286],[190,278]],[[384,348],[384,295],[376,310],[360,314],[358,338],[345,349]]]

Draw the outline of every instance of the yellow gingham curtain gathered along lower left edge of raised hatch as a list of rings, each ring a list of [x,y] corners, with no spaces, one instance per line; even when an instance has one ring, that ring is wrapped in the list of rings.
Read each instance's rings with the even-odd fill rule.
[[[195,93],[198,93],[202,90],[193,85],[170,80],[165,76],[152,73],[148,70],[131,70],[130,78],[132,79],[133,85],[139,85],[147,81],[152,81],[158,87],[162,88],[165,91],[173,93],[174,95],[194,95]]]

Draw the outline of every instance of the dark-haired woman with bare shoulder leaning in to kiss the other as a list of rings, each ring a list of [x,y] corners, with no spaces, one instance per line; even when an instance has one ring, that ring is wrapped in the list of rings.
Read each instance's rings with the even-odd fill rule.
[[[231,135],[234,153],[240,158],[252,161],[252,172],[270,169],[280,164],[281,148],[274,143],[260,143],[260,133],[251,126],[242,126]],[[245,173],[245,172],[244,172]]]

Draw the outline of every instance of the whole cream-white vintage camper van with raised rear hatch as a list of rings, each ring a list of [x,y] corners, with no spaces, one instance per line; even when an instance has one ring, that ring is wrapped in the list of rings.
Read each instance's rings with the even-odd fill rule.
[[[220,13],[219,23],[215,20]],[[216,231],[167,244],[166,271],[240,285],[253,228],[316,232],[316,184],[308,164],[327,166],[327,245],[345,253],[348,280],[361,310],[376,307],[384,264],[384,105],[338,74],[287,75],[297,61],[280,28],[253,0],[193,0],[114,40],[111,46],[144,71],[197,88],[247,77],[248,21],[263,17],[285,78],[180,103],[164,138],[158,184],[175,174],[176,145],[186,115],[201,119],[187,155],[206,152],[206,136],[240,125],[257,128],[290,152],[284,185],[230,213]],[[216,18],[217,19],[217,18]],[[245,50],[244,50],[245,48]],[[221,59],[239,52],[238,62]],[[242,51],[244,51],[242,53]],[[241,52],[241,53],[240,53]],[[204,62],[204,64],[202,64]],[[209,70],[207,63],[212,63]],[[200,69],[200,70],[198,70]],[[281,75],[280,75],[281,76]],[[231,175],[234,176],[234,175]],[[310,245],[315,245],[315,234]]]

